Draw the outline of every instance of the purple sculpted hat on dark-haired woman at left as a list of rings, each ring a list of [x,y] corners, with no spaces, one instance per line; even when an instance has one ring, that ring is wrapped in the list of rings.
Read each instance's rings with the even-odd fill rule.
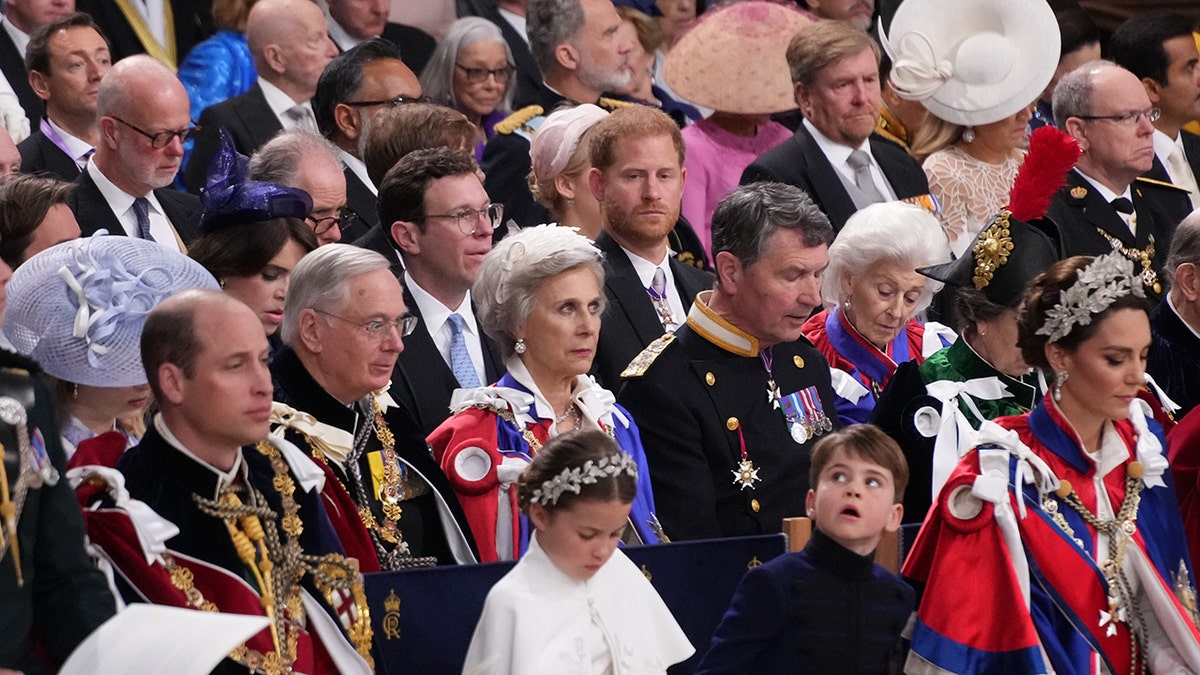
[[[250,160],[238,153],[229,132],[221,129],[221,147],[209,165],[200,203],[200,232],[275,217],[307,217],[312,198],[304,190],[246,178]]]

